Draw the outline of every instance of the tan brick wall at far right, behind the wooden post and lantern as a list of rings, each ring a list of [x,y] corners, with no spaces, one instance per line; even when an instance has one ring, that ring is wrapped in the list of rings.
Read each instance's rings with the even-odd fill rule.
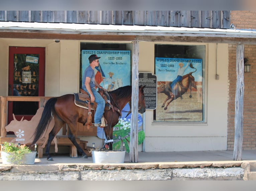
[[[233,23],[236,29],[256,30],[256,11],[231,11],[230,23]],[[244,45],[244,57],[248,57],[249,63],[251,64],[251,72],[244,73],[243,149],[256,150],[256,42],[255,45]],[[235,134],[236,44],[229,45],[228,77],[227,149],[233,150]]]

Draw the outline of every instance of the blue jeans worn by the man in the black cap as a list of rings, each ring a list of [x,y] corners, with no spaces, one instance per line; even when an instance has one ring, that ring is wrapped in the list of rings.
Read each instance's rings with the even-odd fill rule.
[[[86,91],[89,94],[89,92],[86,90],[86,88],[83,89],[83,90]],[[104,108],[105,108],[105,100],[94,88],[91,88],[91,90],[92,90],[93,95],[95,97],[94,101],[97,103],[96,111],[94,111],[95,112],[94,113],[94,123],[100,123],[101,124],[101,117],[103,115]]]

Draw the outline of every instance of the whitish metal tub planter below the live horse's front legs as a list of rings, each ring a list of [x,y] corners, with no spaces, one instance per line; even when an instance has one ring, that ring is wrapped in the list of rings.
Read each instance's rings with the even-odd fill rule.
[[[109,146],[104,144],[103,148],[93,148],[90,150],[93,156],[93,163],[124,163],[125,150],[109,150]]]

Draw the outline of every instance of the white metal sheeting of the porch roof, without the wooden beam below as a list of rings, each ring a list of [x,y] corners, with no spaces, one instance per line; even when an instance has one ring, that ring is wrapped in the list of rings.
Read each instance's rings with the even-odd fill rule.
[[[75,23],[38,23],[38,22],[0,22],[0,30],[31,30],[31,31],[63,31],[83,34],[87,32],[119,32],[119,33],[191,33],[221,35],[256,35],[254,30],[138,26],[138,25],[103,25]]]

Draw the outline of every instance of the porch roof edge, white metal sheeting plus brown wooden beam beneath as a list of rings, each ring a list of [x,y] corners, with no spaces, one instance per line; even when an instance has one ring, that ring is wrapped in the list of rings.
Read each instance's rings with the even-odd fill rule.
[[[12,33],[14,36],[7,35],[7,33]],[[71,40],[85,40],[88,39],[88,35],[95,35],[90,40],[96,40],[97,38],[97,40],[99,40],[99,37],[96,37],[96,35],[105,35],[109,37],[105,37],[103,40],[220,42],[244,44],[254,44],[256,41],[255,30],[75,23],[0,22],[0,38],[19,38],[17,33],[20,35],[23,33],[20,38],[46,38],[43,35],[50,34],[47,36],[49,39],[59,38]],[[30,36],[25,36],[24,33],[29,34]],[[83,37],[84,35],[87,37]],[[124,36],[126,36],[126,38],[124,38]]]

